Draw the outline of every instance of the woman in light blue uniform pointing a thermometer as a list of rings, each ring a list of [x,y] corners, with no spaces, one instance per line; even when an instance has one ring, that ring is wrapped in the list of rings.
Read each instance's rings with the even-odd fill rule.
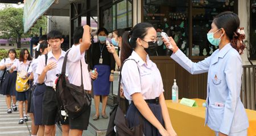
[[[218,136],[246,136],[249,123],[240,99],[240,54],[245,48],[242,41],[245,33],[240,29],[237,14],[230,11],[218,14],[213,19],[207,38],[212,45],[218,46],[218,49],[212,56],[193,63],[170,37],[174,51],[171,58],[191,74],[208,72],[205,124]],[[166,40],[164,44],[170,45]]]

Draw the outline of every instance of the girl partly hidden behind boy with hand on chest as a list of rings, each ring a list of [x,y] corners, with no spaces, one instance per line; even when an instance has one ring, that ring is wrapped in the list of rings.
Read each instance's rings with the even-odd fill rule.
[[[38,84],[38,74],[36,73],[36,67],[38,66],[38,57],[42,54],[48,53],[51,50],[47,41],[40,42],[39,48],[35,50],[35,59],[33,59],[28,73],[31,73],[31,78],[33,81],[34,91],[32,92],[32,103],[31,103],[31,135],[44,135],[44,126],[42,125],[42,99],[43,93],[46,90],[44,84]]]

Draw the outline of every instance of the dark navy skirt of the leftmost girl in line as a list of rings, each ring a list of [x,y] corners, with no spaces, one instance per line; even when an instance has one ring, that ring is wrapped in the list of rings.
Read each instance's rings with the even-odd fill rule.
[[[16,78],[17,72],[5,74],[5,80],[1,84],[1,94],[16,96]]]

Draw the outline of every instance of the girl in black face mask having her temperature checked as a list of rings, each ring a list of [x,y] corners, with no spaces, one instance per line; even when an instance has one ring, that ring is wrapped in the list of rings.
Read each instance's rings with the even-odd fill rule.
[[[123,34],[121,84],[125,98],[131,100],[127,123],[130,127],[142,123],[147,136],[177,135],[164,99],[160,71],[148,57],[151,46],[157,46],[157,42],[155,28],[149,23],[139,23]]]

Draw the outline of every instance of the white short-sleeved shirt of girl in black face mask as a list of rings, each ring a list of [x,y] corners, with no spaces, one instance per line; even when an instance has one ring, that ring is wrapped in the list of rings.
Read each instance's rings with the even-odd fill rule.
[[[147,55],[146,63],[133,51],[122,67],[122,87],[127,100],[139,92],[143,99],[155,99],[164,91],[160,71]]]

